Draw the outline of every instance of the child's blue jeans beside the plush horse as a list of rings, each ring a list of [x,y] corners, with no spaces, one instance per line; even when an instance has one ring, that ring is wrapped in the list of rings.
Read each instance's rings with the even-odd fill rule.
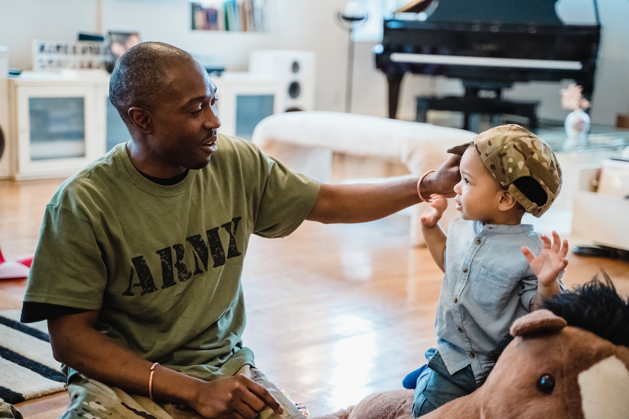
[[[427,367],[421,371],[415,388],[413,416],[416,418],[476,389],[476,378],[471,366],[450,375],[435,348],[426,351],[426,359]]]

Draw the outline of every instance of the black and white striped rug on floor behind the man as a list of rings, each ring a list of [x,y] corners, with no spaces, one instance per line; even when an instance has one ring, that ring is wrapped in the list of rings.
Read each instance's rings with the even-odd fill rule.
[[[19,315],[19,310],[0,310],[0,398],[12,405],[66,389],[47,322],[25,325]]]

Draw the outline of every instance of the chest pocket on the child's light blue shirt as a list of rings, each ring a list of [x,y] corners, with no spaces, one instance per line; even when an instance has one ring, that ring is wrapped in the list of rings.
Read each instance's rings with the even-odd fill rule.
[[[510,303],[513,294],[513,277],[507,277],[484,266],[479,268],[477,275],[468,282],[474,301],[484,311],[502,311]]]

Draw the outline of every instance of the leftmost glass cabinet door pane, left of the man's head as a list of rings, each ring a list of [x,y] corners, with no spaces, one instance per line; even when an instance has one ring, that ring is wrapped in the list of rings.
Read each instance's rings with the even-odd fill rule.
[[[85,98],[28,98],[30,160],[86,156]]]

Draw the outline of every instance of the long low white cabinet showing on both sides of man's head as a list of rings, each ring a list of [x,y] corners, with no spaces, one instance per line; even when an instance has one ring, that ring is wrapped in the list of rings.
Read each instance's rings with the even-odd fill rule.
[[[286,107],[283,77],[224,72],[212,81],[219,133],[250,140],[262,118]],[[23,72],[9,79],[8,177],[67,177],[126,142],[129,132],[108,93],[104,70]]]

